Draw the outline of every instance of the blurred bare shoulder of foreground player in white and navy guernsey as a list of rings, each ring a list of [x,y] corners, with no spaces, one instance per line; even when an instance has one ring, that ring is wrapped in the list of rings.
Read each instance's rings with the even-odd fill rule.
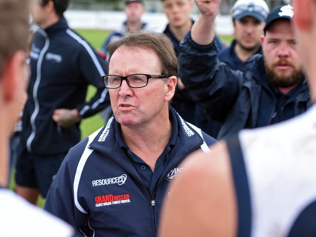
[[[226,144],[219,142],[210,149],[186,159],[184,172],[173,182],[163,209],[161,237],[229,237],[236,233],[235,193]]]

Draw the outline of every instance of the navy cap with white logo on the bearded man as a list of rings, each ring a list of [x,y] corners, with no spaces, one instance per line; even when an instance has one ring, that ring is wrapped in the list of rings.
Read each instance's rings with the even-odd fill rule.
[[[266,32],[268,27],[278,19],[289,19],[292,20],[294,16],[293,7],[290,4],[280,5],[276,8],[273,8],[269,13],[267,19],[265,20],[265,26],[263,31]]]

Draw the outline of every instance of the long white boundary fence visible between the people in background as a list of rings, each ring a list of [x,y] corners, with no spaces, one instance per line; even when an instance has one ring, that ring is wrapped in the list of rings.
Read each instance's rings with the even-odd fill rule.
[[[65,17],[73,29],[118,30],[125,20],[124,12],[114,11],[68,10],[65,12]],[[192,15],[193,19],[196,17],[196,15]],[[142,20],[149,24],[150,30],[156,32],[162,32],[167,24],[167,17],[164,13],[145,13]],[[215,28],[218,35],[232,35],[233,24],[230,16],[218,16]]]

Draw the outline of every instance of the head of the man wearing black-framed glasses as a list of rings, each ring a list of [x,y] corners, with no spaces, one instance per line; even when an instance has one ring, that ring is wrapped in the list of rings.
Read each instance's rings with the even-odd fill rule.
[[[135,128],[168,117],[168,104],[174,95],[178,74],[177,57],[170,39],[163,34],[137,32],[112,42],[108,48],[109,74],[161,75],[132,76],[130,83],[148,82],[142,88],[132,88],[124,80],[119,88],[109,89],[115,119],[123,126]]]

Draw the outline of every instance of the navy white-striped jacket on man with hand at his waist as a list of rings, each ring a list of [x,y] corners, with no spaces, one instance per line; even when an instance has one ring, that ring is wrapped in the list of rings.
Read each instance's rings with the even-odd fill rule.
[[[80,141],[79,123],[61,128],[52,119],[55,109],[78,109],[82,118],[109,105],[101,76],[106,63],[74,31],[65,18],[34,34],[31,79],[22,118],[21,149],[39,155],[66,153]],[[88,85],[97,88],[85,102]]]

